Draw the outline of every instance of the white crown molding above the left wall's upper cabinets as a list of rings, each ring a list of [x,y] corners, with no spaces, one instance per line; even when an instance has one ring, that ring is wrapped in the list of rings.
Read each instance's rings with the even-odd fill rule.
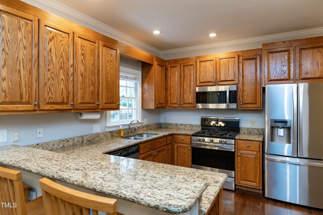
[[[57,1],[53,1],[53,0],[36,0],[36,1],[48,6],[50,8],[53,8],[53,9],[58,10],[60,12],[63,12],[65,14],[67,14],[68,16],[72,16],[72,17],[74,17],[74,18],[76,18],[78,20],[81,20],[81,21],[83,21],[83,22],[85,22],[85,23],[87,23],[89,25],[95,26],[95,27],[97,27],[97,28],[99,28],[99,29],[101,29],[103,31],[106,31],[106,32],[108,32],[110,34],[113,34],[113,35],[115,35],[117,37],[120,37],[120,38],[122,38],[122,39],[124,39],[124,40],[126,40],[128,42],[136,44],[136,45],[138,45],[138,46],[140,46],[140,47],[142,47],[144,49],[150,50],[150,51],[152,51],[152,52],[154,52],[154,53],[156,53],[158,55],[160,54],[159,49],[154,48],[154,47],[152,47],[152,46],[150,46],[150,45],[148,45],[148,44],[146,44],[144,42],[141,42],[140,40],[137,40],[137,39],[125,34],[125,33],[122,33],[121,31],[118,31],[117,29],[114,29],[114,28],[112,28],[112,27],[110,27],[108,25],[105,25],[104,23],[101,23],[101,22],[99,22],[99,21],[97,21],[97,20],[95,20],[95,19],[93,19],[93,18],[91,18],[89,16],[86,16],[85,14],[82,14],[82,13],[80,13],[80,12],[78,12],[78,11],[72,9],[72,8],[69,8],[69,7],[67,7],[67,6],[65,6],[65,5],[63,5],[63,4],[61,4],[61,3],[57,2]]]

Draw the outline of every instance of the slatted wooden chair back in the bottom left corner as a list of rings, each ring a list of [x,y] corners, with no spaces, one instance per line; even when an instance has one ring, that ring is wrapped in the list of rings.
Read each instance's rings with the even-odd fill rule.
[[[0,208],[0,214],[27,214],[21,172],[0,167],[0,202],[7,204]],[[16,203],[16,207],[13,207],[13,203]]]

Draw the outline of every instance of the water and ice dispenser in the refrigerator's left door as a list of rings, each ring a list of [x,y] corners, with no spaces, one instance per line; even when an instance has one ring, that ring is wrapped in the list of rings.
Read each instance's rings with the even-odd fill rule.
[[[292,120],[271,119],[271,142],[291,144]]]

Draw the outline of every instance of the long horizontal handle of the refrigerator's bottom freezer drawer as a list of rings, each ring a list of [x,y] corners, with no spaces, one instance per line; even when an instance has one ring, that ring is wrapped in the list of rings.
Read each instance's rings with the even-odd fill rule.
[[[274,162],[281,162],[281,163],[287,163],[287,164],[323,167],[323,161],[288,158],[288,157],[280,157],[280,156],[274,156],[274,155],[265,155],[265,159],[266,161],[274,161]]]

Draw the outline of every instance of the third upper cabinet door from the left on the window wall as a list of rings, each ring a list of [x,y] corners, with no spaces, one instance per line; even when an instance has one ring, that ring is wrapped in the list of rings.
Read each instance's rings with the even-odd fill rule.
[[[99,41],[79,33],[74,33],[75,109],[99,108]]]

